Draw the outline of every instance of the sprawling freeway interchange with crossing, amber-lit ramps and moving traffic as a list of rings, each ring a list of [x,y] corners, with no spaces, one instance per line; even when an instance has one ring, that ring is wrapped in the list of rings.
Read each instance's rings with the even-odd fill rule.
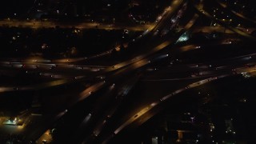
[[[215,1],[212,0],[212,2]],[[218,6],[218,1],[216,2]],[[247,31],[242,31],[238,27],[230,26],[229,22],[221,21],[211,15],[207,11],[209,7],[205,6],[206,3],[203,0],[171,1],[161,17],[150,26],[98,26],[98,29],[105,30],[123,29],[123,27],[126,30],[143,30],[141,35],[127,43],[126,49],[133,53],[128,56],[123,54],[123,58],[118,62],[108,61],[108,58],[113,56],[114,50],[107,50],[102,54],[86,58],[2,58],[0,61],[2,75],[14,77],[18,70],[22,70],[26,74],[38,74],[38,77],[45,78],[46,82],[26,86],[15,84],[5,86],[2,83],[1,94],[56,89],[57,92],[54,94],[71,95],[62,102],[62,106],[57,106],[58,110],[52,114],[45,114],[41,119],[38,118],[40,120],[34,120],[37,118],[29,115],[30,110],[26,112],[29,116],[22,128],[24,129],[22,133],[26,134],[26,141],[34,139],[42,142],[43,139],[47,139],[48,142],[55,143],[114,143],[123,131],[142,126],[164,110],[168,102],[178,97],[178,94],[183,91],[234,75],[254,77],[256,52],[250,50],[250,46],[255,44],[255,37],[248,30],[254,30],[254,23],[248,21],[253,26],[246,27]],[[220,6],[219,9],[226,7],[222,3]],[[240,16],[233,15],[234,18],[240,18]],[[202,24],[204,21],[216,22],[218,26],[204,26]],[[0,23],[16,25],[16,22]],[[30,24],[24,23],[31,28],[42,23]],[[247,26],[247,21],[244,25]],[[53,25],[47,23],[46,26]],[[75,27],[94,29],[95,26],[87,23]],[[210,42],[200,42],[200,40],[199,42],[186,42],[186,40],[179,42],[186,33],[196,36],[198,33],[215,34],[217,32],[224,35],[223,38],[218,40],[213,38],[214,40]],[[218,54],[220,51],[219,55],[222,57],[212,56],[212,59],[206,62],[202,60],[203,58],[199,58],[200,62],[186,63],[182,63],[185,58],[178,58],[180,54],[201,51],[210,46],[214,47],[213,51],[217,51],[213,54]],[[223,47],[232,49],[239,46],[248,47],[249,52],[234,55],[223,52],[222,54]],[[130,93],[140,82],[152,83],[153,86],[148,86],[150,90],[146,90],[146,96],[133,98]],[[159,84],[161,82],[162,85]],[[177,82],[175,86],[174,83]],[[155,86],[154,89],[154,83],[167,86],[164,88]],[[66,90],[68,86],[73,86],[74,90]],[[130,103],[127,104],[127,102]],[[48,138],[50,131],[54,131],[52,132],[54,140]]]

